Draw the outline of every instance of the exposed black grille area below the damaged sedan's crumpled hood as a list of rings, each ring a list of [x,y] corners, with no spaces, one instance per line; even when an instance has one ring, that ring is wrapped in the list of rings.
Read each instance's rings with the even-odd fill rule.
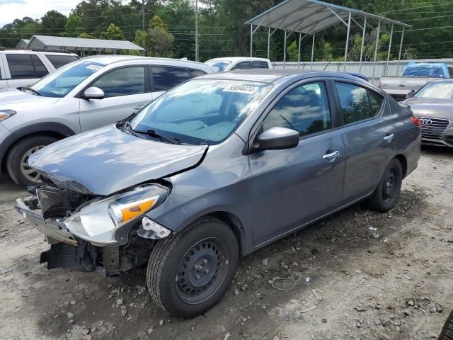
[[[90,196],[54,186],[42,186],[36,189],[42,217],[67,217],[74,210],[91,199]]]

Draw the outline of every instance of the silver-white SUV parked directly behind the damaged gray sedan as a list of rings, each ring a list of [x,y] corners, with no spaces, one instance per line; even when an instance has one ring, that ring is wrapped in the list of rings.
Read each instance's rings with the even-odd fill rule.
[[[1,169],[20,185],[35,185],[40,174],[28,166],[34,152],[123,120],[173,86],[217,71],[200,62],[96,56],[67,64],[21,91],[1,91]]]

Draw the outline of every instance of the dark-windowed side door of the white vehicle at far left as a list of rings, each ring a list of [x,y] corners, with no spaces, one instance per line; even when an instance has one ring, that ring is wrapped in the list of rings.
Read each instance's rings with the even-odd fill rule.
[[[33,85],[49,74],[40,57],[31,53],[5,52],[4,65],[8,87],[13,89]]]

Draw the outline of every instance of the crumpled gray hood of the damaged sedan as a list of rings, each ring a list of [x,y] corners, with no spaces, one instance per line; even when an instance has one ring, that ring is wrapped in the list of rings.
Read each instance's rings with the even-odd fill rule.
[[[146,140],[109,125],[49,145],[28,163],[60,188],[106,196],[196,166],[206,149]]]

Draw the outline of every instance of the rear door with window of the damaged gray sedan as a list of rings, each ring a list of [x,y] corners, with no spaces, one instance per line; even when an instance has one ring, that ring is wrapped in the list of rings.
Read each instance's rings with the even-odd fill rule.
[[[346,151],[344,200],[350,203],[372,193],[393,157],[396,132],[389,106],[372,87],[353,81],[334,81],[343,121]]]

